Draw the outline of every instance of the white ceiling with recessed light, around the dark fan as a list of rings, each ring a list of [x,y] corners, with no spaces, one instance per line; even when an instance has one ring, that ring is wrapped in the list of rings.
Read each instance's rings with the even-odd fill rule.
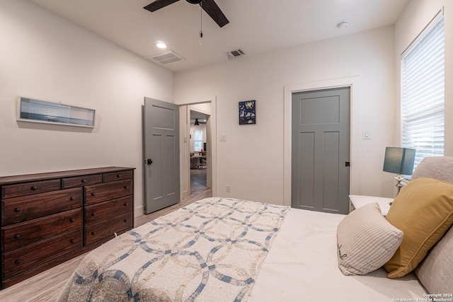
[[[173,50],[183,61],[171,71],[226,61],[241,48],[247,56],[392,25],[408,0],[216,0],[223,28],[200,6],[180,0],[154,13],[154,0],[30,0],[141,57]],[[204,36],[200,45],[200,17]],[[348,28],[336,28],[348,20]],[[166,42],[160,50],[156,41]]]

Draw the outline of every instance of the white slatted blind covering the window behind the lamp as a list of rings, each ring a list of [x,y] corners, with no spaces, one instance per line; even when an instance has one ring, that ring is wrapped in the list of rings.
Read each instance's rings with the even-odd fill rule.
[[[444,154],[444,16],[401,56],[401,146],[416,149],[414,169]]]

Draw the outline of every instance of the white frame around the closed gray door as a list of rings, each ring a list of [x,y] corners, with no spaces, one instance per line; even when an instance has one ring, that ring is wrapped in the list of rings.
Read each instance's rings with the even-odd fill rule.
[[[285,86],[285,129],[283,146],[283,204],[291,207],[291,125],[292,93],[316,91],[328,88],[350,87],[350,194],[359,193],[360,169],[360,78],[358,76],[344,79],[299,83]]]

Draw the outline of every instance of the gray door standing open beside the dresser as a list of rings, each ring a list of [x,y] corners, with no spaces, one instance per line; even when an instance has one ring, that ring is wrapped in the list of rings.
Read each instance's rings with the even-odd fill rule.
[[[145,213],[180,200],[179,107],[144,98]]]

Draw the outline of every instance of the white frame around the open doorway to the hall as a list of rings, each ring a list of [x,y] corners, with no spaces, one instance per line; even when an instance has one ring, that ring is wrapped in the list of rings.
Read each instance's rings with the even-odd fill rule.
[[[217,196],[217,96],[216,95],[210,95],[205,98],[195,98],[195,99],[190,99],[190,100],[182,100],[179,102],[175,102],[176,105],[181,106],[190,106],[190,105],[197,105],[197,104],[202,104],[202,103],[211,103],[211,113],[210,113],[210,118],[208,122],[210,122],[210,153],[212,156],[212,196]],[[186,127],[190,124],[190,119],[188,117],[183,117],[180,115],[179,117],[180,120],[180,132],[183,131],[183,136],[180,138],[182,139],[180,143],[180,156],[187,156],[188,154],[188,144],[184,143],[184,137],[188,139],[187,137],[187,132],[185,131]],[[208,151],[209,152],[209,151]],[[184,163],[185,161],[180,161],[181,163]],[[180,165],[180,194],[181,197],[180,199],[184,199],[185,196],[184,194],[184,189],[185,187],[183,186],[189,186],[190,187],[190,163],[189,165]],[[188,180],[188,183],[187,183]],[[186,181],[186,182],[185,182]]]

